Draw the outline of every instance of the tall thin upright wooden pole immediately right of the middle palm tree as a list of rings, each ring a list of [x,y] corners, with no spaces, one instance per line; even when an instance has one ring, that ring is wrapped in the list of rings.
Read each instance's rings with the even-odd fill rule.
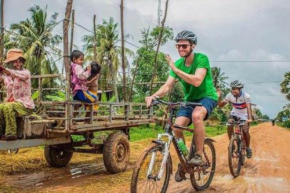
[[[121,14],[121,40],[122,40],[122,45],[121,45],[121,52],[122,52],[122,70],[123,70],[123,98],[124,102],[127,101],[126,99],[126,67],[125,67],[125,50],[124,50],[124,17],[123,17],[123,6],[124,2],[121,0],[120,4],[120,14]]]

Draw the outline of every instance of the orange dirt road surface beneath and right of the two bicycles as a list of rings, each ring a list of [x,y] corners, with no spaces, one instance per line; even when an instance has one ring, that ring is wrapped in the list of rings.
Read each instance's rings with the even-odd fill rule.
[[[251,128],[250,133],[253,156],[246,159],[235,179],[229,173],[226,134],[214,138],[217,170],[204,192],[290,192],[290,132],[263,123]],[[190,181],[174,182],[168,192],[193,192],[193,189]]]

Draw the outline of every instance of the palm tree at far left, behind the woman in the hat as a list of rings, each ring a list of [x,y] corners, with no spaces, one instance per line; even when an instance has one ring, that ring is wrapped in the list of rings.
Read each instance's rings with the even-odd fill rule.
[[[60,57],[61,50],[58,45],[62,37],[52,34],[53,28],[57,25],[58,13],[52,14],[48,20],[47,6],[42,9],[33,6],[28,10],[31,14],[29,19],[12,23],[10,40],[23,50],[26,57],[26,68],[32,75],[57,73],[55,63],[56,55]],[[44,84],[53,83],[50,80],[43,80]]]

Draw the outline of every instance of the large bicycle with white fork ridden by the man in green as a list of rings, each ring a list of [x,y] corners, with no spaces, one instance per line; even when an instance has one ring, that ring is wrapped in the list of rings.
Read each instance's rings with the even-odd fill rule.
[[[195,154],[194,137],[191,142],[191,149],[188,156],[184,156],[177,145],[173,128],[193,130],[181,125],[173,124],[173,114],[177,108],[182,106],[200,106],[200,103],[184,103],[184,102],[166,102],[162,100],[154,100],[153,105],[164,104],[167,107],[166,114],[169,112],[168,119],[165,121],[162,134],[157,134],[157,140],[152,141],[153,144],[144,150],[139,157],[131,179],[131,192],[166,192],[169,180],[173,174],[172,159],[169,152],[171,143],[175,148],[178,159],[180,160],[180,175],[186,179],[185,174],[190,174],[191,184],[195,190],[204,190],[209,187],[215,173],[215,148],[213,139],[206,138],[204,140],[203,165],[190,165],[188,163]],[[166,140],[165,140],[166,139]],[[165,174],[164,174],[165,172]]]

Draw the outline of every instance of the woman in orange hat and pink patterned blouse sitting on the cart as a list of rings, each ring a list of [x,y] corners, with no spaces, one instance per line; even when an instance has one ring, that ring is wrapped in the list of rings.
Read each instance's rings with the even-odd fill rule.
[[[10,49],[6,61],[14,69],[0,65],[0,79],[4,82],[7,97],[0,103],[0,135],[1,140],[17,140],[16,115],[32,114],[35,103],[31,99],[30,71],[23,68],[26,59],[19,49]]]

